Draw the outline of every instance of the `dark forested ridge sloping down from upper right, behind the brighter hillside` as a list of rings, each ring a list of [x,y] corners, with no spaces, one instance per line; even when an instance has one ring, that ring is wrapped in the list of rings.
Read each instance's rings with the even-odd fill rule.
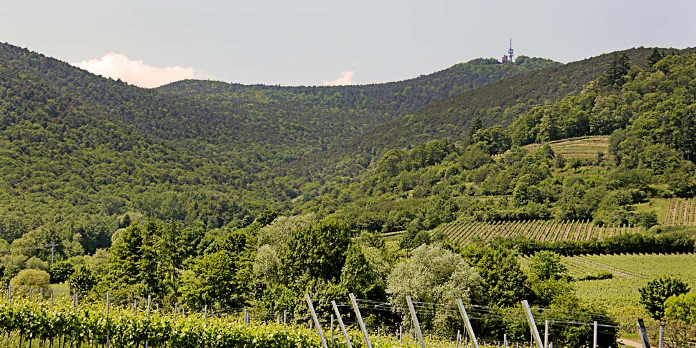
[[[661,49],[665,54],[694,49]],[[468,141],[470,129],[507,125],[536,105],[550,104],[582,90],[606,71],[615,56],[645,68],[651,48],[634,48],[518,74],[487,86],[467,90],[414,113],[370,127],[329,151],[310,154],[278,171],[281,182],[294,185],[333,178],[354,177],[390,149],[406,148],[434,139]],[[519,58],[518,58],[519,59]],[[374,164],[374,163],[372,163]]]

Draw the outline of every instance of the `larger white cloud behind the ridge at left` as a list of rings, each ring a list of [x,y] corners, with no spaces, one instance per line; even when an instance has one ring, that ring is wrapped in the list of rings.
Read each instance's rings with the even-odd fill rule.
[[[193,68],[180,66],[157,68],[142,61],[132,61],[120,53],[111,52],[102,58],[72,63],[72,65],[93,74],[121,79],[129,84],[144,88],[154,88],[182,79],[209,79],[210,76]]]

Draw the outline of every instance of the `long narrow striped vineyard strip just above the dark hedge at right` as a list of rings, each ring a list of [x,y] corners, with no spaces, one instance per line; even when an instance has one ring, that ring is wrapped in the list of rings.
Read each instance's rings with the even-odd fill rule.
[[[639,232],[635,226],[599,227],[591,221],[504,221],[504,222],[453,222],[435,230],[443,232],[452,242],[464,243],[474,240],[489,241],[493,237],[528,237],[530,239],[555,242],[557,240],[603,239],[628,232]]]

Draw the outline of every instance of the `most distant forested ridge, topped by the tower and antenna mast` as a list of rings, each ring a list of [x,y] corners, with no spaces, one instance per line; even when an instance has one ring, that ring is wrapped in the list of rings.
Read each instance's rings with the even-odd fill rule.
[[[492,58],[478,58],[459,63],[445,70],[413,79],[354,86],[268,86],[226,84],[218,81],[178,81],[158,88],[177,95],[205,95],[206,98],[234,100],[239,93],[264,91],[280,100],[302,95],[334,107],[350,107],[365,111],[405,114],[422,106],[491,84],[524,72],[559,65],[544,58],[520,56],[515,64],[501,64]],[[296,98],[296,97],[294,97]],[[379,119],[378,119],[379,120]]]

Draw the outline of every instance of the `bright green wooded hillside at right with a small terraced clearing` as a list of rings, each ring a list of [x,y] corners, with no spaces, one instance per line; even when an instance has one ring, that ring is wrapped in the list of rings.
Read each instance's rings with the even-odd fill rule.
[[[304,184],[295,209],[374,232],[407,230],[402,246],[454,219],[652,228],[661,202],[696,196],[696,54],[650,58],[617,54],[579,93],[507,126],[392,148],[356,177]]]

